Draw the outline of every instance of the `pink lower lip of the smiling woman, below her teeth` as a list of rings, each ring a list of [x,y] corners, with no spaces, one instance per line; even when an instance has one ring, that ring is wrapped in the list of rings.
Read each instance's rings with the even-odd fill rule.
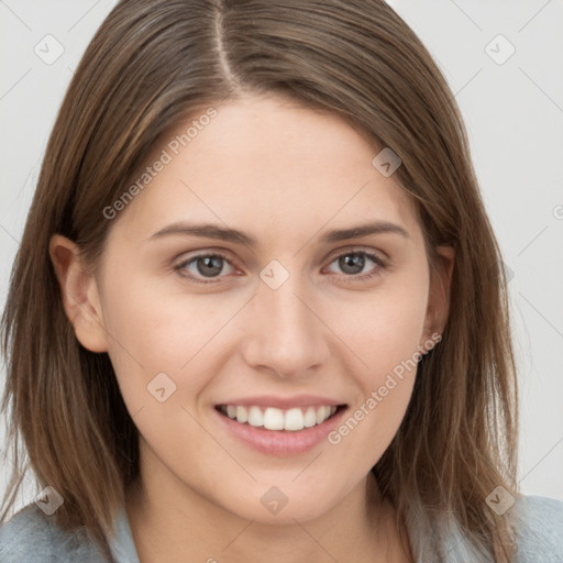
[[[341,408],[321,424],[298,431],[251,427],[222,415],[217,409],[213,410],[221,423],[246,445],[262,453],[289,456],[308,452],[327,439],[327,435],[338,427],[347,409]]]

